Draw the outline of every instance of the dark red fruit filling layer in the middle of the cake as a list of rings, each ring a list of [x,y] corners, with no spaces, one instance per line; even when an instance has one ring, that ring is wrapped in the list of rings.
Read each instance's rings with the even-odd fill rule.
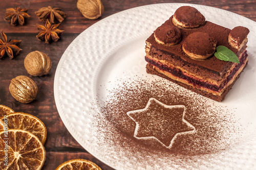
[[[153,61],[153,60],[151,60],[147,57],[145,57],[145,60],[146,60],[146,62],[158,67],[161,70],[167,71],[167,72],[169,72],[170,74],[172,74],[176,77],[179,77],[181,79],[184,79],[184,80],[188,81],[189,84],[193,84],[194,86],[201,86],[201,87],[219,92],[232,79],[234,74],[236,74],[236,72],[244,64],[247,56],[248,56],[247,51],[245,51],[244,54],[242,55],[241,59],[240,59],[240,63],[236,66],[236,68],[234,68],[232,70],[231,74],[229,76],[227,76],[227,78],[224,80],[224,82],[220,86],[213,85],[213,84],[210,84],[210,83],[207,83],[207,82],[197,80],[193,77],[186,76],[182,73],[182,71],[180,69],[168,67],[166,65],[163,65],[160,62]]]

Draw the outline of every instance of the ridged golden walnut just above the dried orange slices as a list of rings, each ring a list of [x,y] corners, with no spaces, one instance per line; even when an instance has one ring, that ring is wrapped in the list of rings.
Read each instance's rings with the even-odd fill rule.
[[[11,80],[9,91],[18,102],[30,103],[35,100],[38,87],[29,77],[17,76]]]

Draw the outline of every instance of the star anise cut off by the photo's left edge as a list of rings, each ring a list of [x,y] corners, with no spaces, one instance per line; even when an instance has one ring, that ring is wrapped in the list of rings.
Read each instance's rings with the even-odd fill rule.
[[[21,40],[9,40],[3,31],[0,32],[0,59],[3,59],[6,55],[13,59],[13,54],[18,55],[22,49],[18,46],[22,43]]]

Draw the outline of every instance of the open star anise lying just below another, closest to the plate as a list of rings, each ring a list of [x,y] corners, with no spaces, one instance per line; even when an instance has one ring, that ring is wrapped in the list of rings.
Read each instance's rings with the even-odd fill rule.
[[[49,43],[51,41],[58,41],[59,36],[61,36],[63,33],[63,30],[57,29],[59,25],[60,23],[56,25],[51,25],[51,23],[47,19],[45,26],[37,25],[37,29],[41,32],[38,33],[36,38],[42,41],[46,41],[46,43]]]

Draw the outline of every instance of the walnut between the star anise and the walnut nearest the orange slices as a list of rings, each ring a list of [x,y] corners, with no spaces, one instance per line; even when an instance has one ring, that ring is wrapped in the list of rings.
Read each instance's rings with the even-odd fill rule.
[[[50,73],[52,61],[45,53],[34,51],[26,56],[24,66],[30,75],[42,76]]]

